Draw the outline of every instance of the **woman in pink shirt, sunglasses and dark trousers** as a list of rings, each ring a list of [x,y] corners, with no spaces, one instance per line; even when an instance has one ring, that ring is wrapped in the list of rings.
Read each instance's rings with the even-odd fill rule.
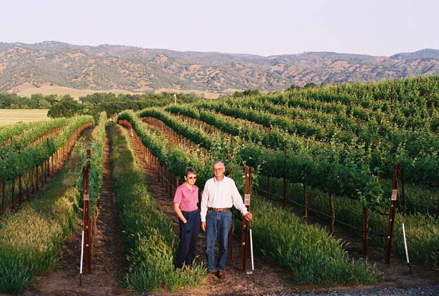
[[[178,186],[173,198],[173,209],[180,224],[180,246],[176,255],[176,267],[191,265],[196,255],[196,240],[200,232],[198,212],[198,187],[195,185],[196,170],[186,168],[184,183]]]

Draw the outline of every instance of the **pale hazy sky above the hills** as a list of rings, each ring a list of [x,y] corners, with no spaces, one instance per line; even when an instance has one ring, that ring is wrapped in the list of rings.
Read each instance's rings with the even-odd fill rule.
[[[261,56],[439,49],[438,0],[10,0],[0,41]]]

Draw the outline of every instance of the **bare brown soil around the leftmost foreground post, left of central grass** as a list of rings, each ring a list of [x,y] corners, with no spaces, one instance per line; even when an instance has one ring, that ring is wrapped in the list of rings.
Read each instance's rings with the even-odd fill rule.
[[[82,275],[80,286],[82,220],[78,220],[76,231],[66,240],[56,269],[43,277],[36,278],[36,284],[24,295],[131,295],[130,291],[121,288],[127,263],[121,231],[118,229],[115,217],[116,198],[112,189],[109,149],[109,136],[107,136],[91,274]]]

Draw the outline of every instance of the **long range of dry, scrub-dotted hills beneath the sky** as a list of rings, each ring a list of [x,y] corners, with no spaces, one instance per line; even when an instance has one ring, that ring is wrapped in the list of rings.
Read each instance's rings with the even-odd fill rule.
[[[439,51],[393,56],[306,52],[279,56],[171,51],[133,46],[79,46],[57,41],[0,42],[0,91],[29,83],[81,90],[148,92],[196,90],[225,93],[258,88],[280,91],[291,84],[343,83],[439,73]]]

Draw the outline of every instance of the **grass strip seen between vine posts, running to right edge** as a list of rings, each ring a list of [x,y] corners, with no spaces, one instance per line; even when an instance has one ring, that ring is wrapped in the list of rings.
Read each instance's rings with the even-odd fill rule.
[[[265,184],[261,184],[264,188]],[[282,193],[282,181],[271,178],[271,192],[276,195]],[[390,198],[390,192],[389,198]],[[303,190],[300,184],[288,185],[288,198],[303,205]],[[318,210],[321,213],[329,213],[328,194],[320,190],[308,188],[308,207]],[[362,229],[363,208],[356,200],[349,198],[335,197],[335,218]],[[313,213],[308,210],[308,213]],[[327,218],[323,217],[326,221]],[[413,214],[403,217],[400,213],[395,215],[393,227],[392,252],[401,259],[405,259],[403,245],[402,223],[405,225],[410,262],[423,263],[439,267],[439,220],[431,215]],[[341,227],[341,226],[338,226]],[[372,245],[381,249],[385,248],[386,239],[374,235],[379,233],[386,235],[388,231],[388,215],[369,212],[368,217],[369,239]],[[336,230],[335,230],[336,231]],[[358,239],[361,233],[358,233]],[[384,257],[384,251],[383,251]]]

